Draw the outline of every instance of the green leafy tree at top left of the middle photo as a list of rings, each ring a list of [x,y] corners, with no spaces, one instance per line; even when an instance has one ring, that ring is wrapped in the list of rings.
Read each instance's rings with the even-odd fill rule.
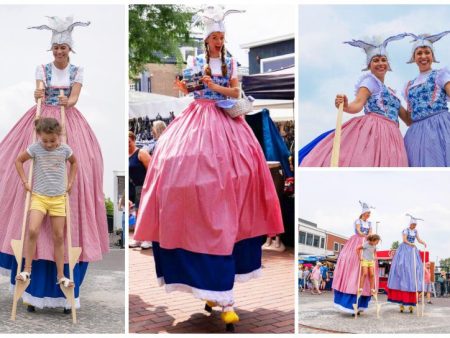
[[[129,71],[138,74],[147,63],[165,56],[182,60],[180,44],[190,44],[192,9],[180,5],[129,6]]]

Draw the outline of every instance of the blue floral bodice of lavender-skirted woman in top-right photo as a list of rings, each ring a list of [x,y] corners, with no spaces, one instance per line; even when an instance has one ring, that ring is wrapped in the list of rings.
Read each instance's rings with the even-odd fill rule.
[[[431,71],[428,78],[421,84],[413,85],[409,81],[405,89],[405,99],[408,102],[408,111],[413,121],[423,120],[429,116],[448,111],[447,94],[441,88],[436,78],[438,71]]]

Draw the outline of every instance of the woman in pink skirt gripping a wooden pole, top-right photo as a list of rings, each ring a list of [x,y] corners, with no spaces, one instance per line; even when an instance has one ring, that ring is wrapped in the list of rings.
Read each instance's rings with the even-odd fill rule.
[[[388,43],[403,39],[405,33],[391,36],[381,44],[361,40],[344,43],[361,48],[366,54],[366,67],[355,85],[355,99],[348,102],[346,95],[337,94],[336,108],[343,104],[343,110],[364,115],[354,117],[342,125],[340,144],[340,167],[407,167],[403,137],[399,129],[399,117],[409,124],[406,110],[394,90],[385,84],[385,77],[391,71],[386,48]],[[302,167],[330,166],[334,132],[318,137],[305,147]],[[316,143],[316,144],[314,144]],[[302,151],[305,152],[306,151]]]

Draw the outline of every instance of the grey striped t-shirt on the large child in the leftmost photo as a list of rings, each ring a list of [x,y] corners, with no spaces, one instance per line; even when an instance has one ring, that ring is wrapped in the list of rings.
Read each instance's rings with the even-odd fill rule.
[[[66,161],[72,156],[72,149],[67,144],[48,151],[40,142],[27,148],[34,159],[33,192],[44,196],[61,196],[66,193]]]

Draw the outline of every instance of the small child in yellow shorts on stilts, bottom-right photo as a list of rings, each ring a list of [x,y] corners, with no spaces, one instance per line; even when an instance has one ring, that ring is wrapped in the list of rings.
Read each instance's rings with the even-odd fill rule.
[[[376,257],[376,246],[380,241],[380,236],[377,234],[367,236],[367,241],[356,248],[356,254],[360,256],[361,250],[361,277],[359,281],[358,294],[363,292],[364,282],[367,275],[369,275],[370,282],[370,293],[374,296],[377,294],[375,289],[375,257]]]

